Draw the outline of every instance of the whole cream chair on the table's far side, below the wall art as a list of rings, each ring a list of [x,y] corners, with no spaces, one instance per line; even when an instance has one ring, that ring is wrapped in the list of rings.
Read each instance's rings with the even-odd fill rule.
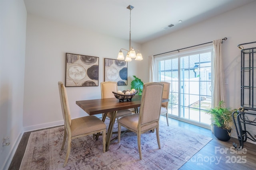
[[[101,82],[100,86],[102,99],[115,97],[112,92],[117,92],[117,82]],[[111,119],[112,114],[112,112],[108,112],[106,116]],[[118,110],[116,113],[116,118],[118,119],[119,117],[130,114],[132,114],[132,111],[130,111],[129,109]],[[105,121],[105,119],[103,118],[102,121]]]

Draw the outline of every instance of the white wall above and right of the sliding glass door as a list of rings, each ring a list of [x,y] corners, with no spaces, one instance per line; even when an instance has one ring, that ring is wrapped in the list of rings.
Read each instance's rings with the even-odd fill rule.
[[[228,79],[226,105],[238,108],[240,107],[241,59],[237,45],[256,41],[255,9],[256,2],[252,2],[186,29],[145,43],[142,45],[142,49],[145,52],[144,55],[156,55],[227,37],[228,39],[222,43],[224,73],[225,78]],[[244,47],[249,46],[244,45]],[[256,43],[254,43],[253,47],[256,47]],[[253,132],[252,134],[255,134],[255,126],[249,127],[249,129]],[[232,135],[237,137],[235,131],[233,131]]]

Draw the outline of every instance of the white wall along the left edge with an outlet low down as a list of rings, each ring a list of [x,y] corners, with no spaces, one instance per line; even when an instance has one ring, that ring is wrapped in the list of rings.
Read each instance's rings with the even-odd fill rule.
[[[26,7],[23,0],[0,2],[0,169],[7,169],[22,135]],[[1,148],[1,146],[0,146]]]

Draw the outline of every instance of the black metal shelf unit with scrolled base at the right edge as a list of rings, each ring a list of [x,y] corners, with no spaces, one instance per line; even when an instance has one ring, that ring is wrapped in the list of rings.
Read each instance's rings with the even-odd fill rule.
[[[256,47],[243,49],[244,44],[238,45],[241,49],[241,107],[232,114],[239,140],[239,146],[235,143],[233,146],[237,150],[244,147],[247,139],[256,141],[256,135],[252,135],[247,131],[248,128],[246,129],[248,125],[256,126]]]

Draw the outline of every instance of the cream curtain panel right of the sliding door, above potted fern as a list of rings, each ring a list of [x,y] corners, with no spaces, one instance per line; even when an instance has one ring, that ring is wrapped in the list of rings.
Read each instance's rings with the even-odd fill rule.
[[[212,87],[212,108],[218,106],[220,100],[226,102],[225,76],[221,52],[222,39],[213,41],[213,87]]]

